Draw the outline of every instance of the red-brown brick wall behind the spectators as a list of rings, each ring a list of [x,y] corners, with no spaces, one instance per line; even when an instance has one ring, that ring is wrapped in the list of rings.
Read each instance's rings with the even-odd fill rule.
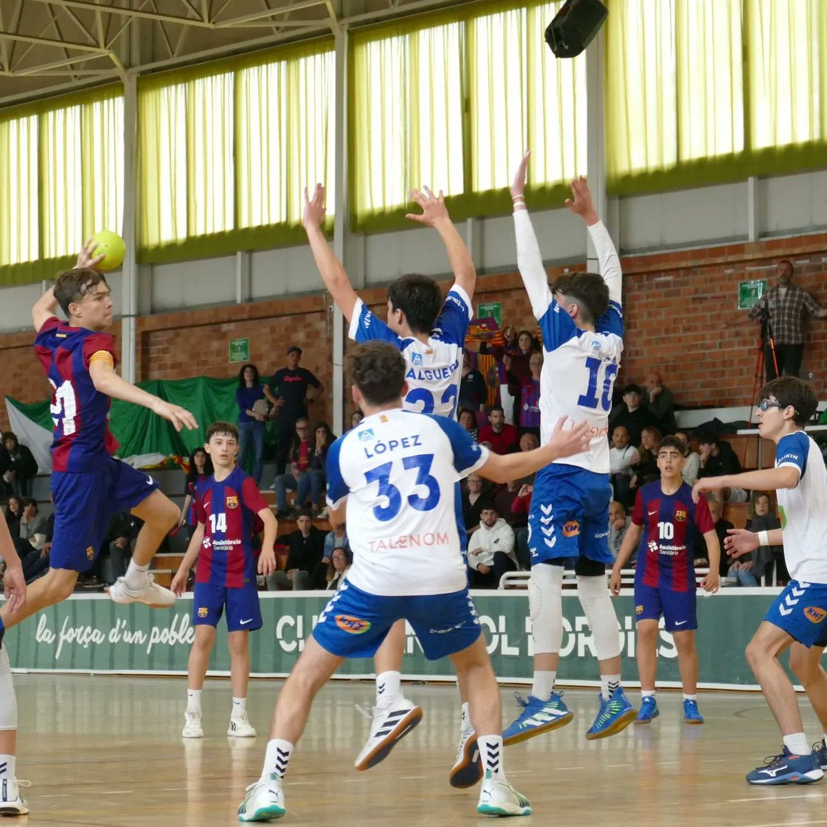
[[[626,349],[621,381],[643,380],[657,367],[686,405],[748,404],[753,389],[757,328],[734,326],[739,280],[768,278],[772,271],[749,272],[749,266],[777,259],[808,258],[796,265],[801,284],[827,306],[827,280],[821,256],[827,234],[715,246],[651,256],[624,258]],[[554,278],[561,270],[550,270]],[[385,289],[363,292],[366,304],[383,318]],[[504,323],[532,325],[528,297],[516,273],[480,276],[474,304],[500,301]],[[803,372],[812,370],[815,388],[827,393],[827,320],[810,320]],[[262,373],[284,366],[290,344],[304,348],[302,365],[324,382],[327,392],[311,410],[331,417],[331,324],[322,295],[274,302],[165,313],[141,318],[138,324],[138,368],[141,379],[178,379],[189,375],[230,376],[237,365],[227,357],[231,338],[249,337],[251,361]],[[34,352],[33,336],[0,336],[0,394],[26,402],[49,393]],[[350,410],[350,406],[347,406]],[[7,427],[5,406],[0,426]]]

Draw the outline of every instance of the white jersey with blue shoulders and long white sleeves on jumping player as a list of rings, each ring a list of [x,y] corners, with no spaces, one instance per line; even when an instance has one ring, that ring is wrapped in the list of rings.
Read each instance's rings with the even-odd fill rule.
[[[528,211],[514,213],[517,264],[543,333],[543,370],[540,373],[540,442],[552,437],[557,419],[569,418],[568,427],[588,422],[587,451],[556,462],[598,474],[609,473],[609,409],[623,351],[623,310],[620,261],[602,222],[589,227],[600,275],[609,287],[609,308],[595,322],[595,332],[581,330],[554,300],[548,287],[537,237]]]

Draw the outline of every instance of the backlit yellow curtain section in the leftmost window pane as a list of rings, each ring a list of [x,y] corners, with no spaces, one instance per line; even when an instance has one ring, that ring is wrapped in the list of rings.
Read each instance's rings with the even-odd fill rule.
[[[38,257],[38,118],[0,119],[0,265]]]

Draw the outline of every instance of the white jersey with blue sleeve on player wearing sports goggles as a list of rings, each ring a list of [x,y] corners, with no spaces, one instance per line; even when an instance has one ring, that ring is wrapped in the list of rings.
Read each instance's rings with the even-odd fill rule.
[[[777,468],[796,468],[795,488],[779,488],[784,560],[790,576],[827,584],[827,468],[818,445],[803,431],[778,440]]]

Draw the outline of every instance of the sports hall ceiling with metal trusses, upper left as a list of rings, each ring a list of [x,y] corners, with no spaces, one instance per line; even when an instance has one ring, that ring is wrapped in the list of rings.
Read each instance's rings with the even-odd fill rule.
[[[461,0],[0,0],[0,106]]]

